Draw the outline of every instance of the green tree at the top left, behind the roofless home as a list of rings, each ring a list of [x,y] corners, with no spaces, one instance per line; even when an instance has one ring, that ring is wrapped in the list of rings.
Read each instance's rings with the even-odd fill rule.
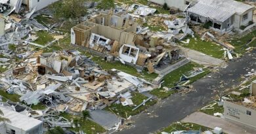
[[[63,0],[57,1],[50,5],[50,9],[53,11],[53,18],[80,18],[87,12],[87,8],[84,5],[85,0]]]

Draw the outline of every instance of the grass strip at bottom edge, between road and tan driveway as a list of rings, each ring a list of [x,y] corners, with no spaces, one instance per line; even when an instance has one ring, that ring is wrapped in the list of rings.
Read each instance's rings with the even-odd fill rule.
[[[168,127],[163,128],[161,131],[158,132],[158,134],[161,134],[162,131],[165,131],[167,133],[171,133],[173,131],[199,131],[201,129],[201,131],[207,131],[207,130],[211,130],[211,128],[205,127],[205,126],[200,126],[198,124],[192,124],[192,123],[186,123],[186,122],[175,122],[173,124],[171,124]]]

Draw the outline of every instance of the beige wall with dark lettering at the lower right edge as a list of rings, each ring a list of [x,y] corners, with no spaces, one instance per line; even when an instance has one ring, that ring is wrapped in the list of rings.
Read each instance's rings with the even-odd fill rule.
[[[246,114],[247,110],[251,112],[251,115]],[[224,101],[224,118],[245,126],[256,128],[256,110],[248,109],[228,101]]]

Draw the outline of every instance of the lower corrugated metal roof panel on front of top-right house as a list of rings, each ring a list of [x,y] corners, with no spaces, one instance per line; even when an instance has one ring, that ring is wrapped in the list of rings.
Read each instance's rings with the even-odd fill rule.
[[[217,7],[211,7],[202,3],[197,3],[193,7],[189,8],[188,12],[198,14],[200,16],[204,16],[205,18],[210,18],[211,20],[215,20],[218,22],[224,22],[235,13],[227,10],[221,10]]]

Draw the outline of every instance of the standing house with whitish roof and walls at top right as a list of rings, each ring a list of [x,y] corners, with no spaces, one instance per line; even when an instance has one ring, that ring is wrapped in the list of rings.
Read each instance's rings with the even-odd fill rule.
[[[192,22],[207,24],[223,34],[253,24],[254,9],[234,0],[198,0],[187,12]]]

